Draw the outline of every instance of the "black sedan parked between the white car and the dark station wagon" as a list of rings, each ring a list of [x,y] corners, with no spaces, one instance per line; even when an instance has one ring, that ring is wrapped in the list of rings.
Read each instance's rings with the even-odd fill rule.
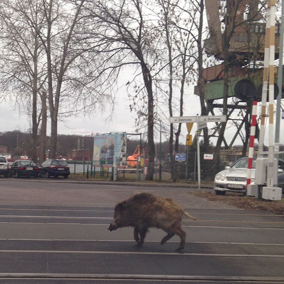
[[[9,168],[9,176],[33,176],[38,177],[39,169],[32,160],[15,160]]]

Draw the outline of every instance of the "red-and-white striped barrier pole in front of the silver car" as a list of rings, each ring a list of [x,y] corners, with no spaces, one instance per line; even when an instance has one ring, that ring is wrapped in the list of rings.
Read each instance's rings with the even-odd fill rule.
[[[252,167],[253,167],[253,159],[254,159],[254,146],[255,146],[255,137],[256,137],[256,125],[257,125],[257,105],[258,102],[253,102],[253,110],[252,110],[252,122],[251,122],[251,135],[250,135],[250,147],[249,147],[249,162],[248,162],[248,175],[247,175],[247,186],[251,184],[252,179]]]

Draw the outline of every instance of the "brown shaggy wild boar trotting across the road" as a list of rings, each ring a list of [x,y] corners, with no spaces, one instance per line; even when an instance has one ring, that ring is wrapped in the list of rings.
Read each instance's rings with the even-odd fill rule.
[[[161,240],[161,245],[177,234],[180,244],[176,250],[180,251],[184,249],[186,237],[181,229],[182,215],[195,220],[171,198],[139,193],[116,204],[114,218],[108,230],[134,227],[134,239],[138,246],[142,246],[148,228],[159,228],[167,233]]]

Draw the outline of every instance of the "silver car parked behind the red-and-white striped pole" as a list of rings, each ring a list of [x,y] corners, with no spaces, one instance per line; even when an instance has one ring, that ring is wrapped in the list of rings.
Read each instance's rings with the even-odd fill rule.
[[[251,184],[255,181],[256,159],[253,160]],[[278,186],[284,192],[284,160],[279,159]],[[246,194],[248,174],[248,158],[243,157],[231,166],[226,166],[224,170],[218,172],[214,178],[214,190],[216,194],[224,195],[226,192],[237,192]]]

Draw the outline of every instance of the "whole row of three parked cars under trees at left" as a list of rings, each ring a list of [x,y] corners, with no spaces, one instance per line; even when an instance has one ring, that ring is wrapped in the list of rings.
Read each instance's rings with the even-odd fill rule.
[[[14,162],[8,162],[6,157],[0,156],[0,174],[4,177],[34,177],[45,176],[50,178],[51,176],[57,178],[63,176],[68,178],[70,174],[69,166],[65,160],[48,159],[41,165],[37,165],[32,160],[15,160]]]

